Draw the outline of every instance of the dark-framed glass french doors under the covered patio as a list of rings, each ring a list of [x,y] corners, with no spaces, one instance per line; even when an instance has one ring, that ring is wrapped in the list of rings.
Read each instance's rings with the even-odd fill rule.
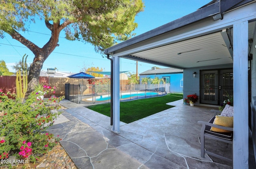
[[[233,70],[203,70],[200,72],[200,103],[220,105],[233,95]]]

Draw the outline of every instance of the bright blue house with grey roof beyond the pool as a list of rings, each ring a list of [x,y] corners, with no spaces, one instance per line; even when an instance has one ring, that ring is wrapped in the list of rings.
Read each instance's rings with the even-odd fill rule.
[[[168,93],[183,93],[183,70],[174,68],[151,69],[140,73],[140,84],[143,78],[163,79],[169,85]],[[162,82],[160,83],[162,84]]]

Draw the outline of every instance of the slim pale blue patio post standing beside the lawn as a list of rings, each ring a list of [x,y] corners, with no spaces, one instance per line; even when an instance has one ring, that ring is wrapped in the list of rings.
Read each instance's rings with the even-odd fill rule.
[[[113,59],[113,125],[112,131],[120,132],[120,58],[112,56]]]

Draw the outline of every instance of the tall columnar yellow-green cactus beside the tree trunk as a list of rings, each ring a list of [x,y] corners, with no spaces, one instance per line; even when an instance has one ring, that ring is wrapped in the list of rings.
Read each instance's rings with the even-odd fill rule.
[[[24,63],[24,57],[26,56],[26,54],[24,54],[23,58],[22,58],[22,79],[21,79],[21,68],[19,71],[17,71],[16,73],[16,94],[17,97],[22,101],[25,98],[25,94],[27,92],[28,89],[28,72],[27,72],[27,57],[25,58],[25,63]],[[22,84],[22,80],[23,80],[23,84]]]

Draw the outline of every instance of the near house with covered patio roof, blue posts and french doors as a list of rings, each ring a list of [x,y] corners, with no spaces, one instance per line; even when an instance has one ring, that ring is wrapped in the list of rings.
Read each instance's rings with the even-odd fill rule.
[[[120,132],[120,57],[183,69],[184,96],[195,93],[197,104],[218,105],[223,93],[233,92],[233,167],[248,169],[249,132],[256,154],[255,32],[254,0],[213,0],[191,14],[105,49],[113,60],[112,131]]]

